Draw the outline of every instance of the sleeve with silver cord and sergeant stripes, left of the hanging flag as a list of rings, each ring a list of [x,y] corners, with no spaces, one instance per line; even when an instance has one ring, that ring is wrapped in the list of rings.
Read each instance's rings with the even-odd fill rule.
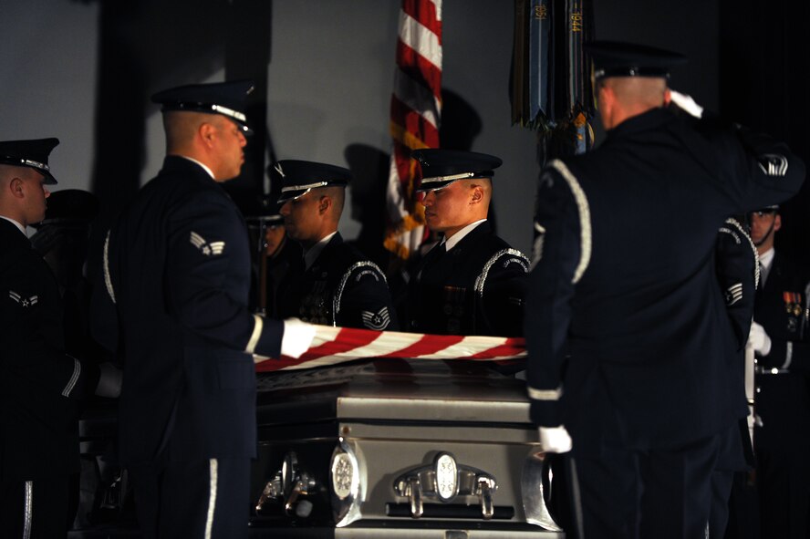
[[[342,275],[334,295],[337,326],[375,331],[400,328],[385,275],[377,264],[361,261]]]

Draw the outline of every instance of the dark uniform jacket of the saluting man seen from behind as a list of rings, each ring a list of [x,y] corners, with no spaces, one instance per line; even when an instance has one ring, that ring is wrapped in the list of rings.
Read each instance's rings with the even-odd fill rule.
[[[739,355],[717,230],[790,197],[805,168],[782,144],[692,120],[650,110],[541,174],[525,326],[532,417],[565,424],[580,451],[610,439],[673,448],[746,413],[728,381]]]

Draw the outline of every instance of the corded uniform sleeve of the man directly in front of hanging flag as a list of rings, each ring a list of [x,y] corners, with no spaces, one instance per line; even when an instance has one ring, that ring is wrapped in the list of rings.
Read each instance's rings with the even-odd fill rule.
[[[523,336],[528,271],[529,260],[515,249],[504,249],[484,264],[475,295],[493,335]]]

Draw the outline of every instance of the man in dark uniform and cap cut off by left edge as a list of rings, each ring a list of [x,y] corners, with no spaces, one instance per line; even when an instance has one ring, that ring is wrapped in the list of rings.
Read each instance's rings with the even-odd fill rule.
[[[57,139],[0,142],[0,535],[64,537],[78,399],[99,367],[66,354],[57,280],[26,237],[46,214]],[[112,395],[110,395],[112,396]]]

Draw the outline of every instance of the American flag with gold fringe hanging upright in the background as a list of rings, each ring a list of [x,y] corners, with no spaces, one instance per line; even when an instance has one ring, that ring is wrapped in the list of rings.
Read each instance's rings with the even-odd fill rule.
[[[419,248],[425,223],[424,208],[416,200],[416,161],[410,159],[410,150],[439,147],[440,118],[441,0],[402,0],[384,243],[402,259]]]

